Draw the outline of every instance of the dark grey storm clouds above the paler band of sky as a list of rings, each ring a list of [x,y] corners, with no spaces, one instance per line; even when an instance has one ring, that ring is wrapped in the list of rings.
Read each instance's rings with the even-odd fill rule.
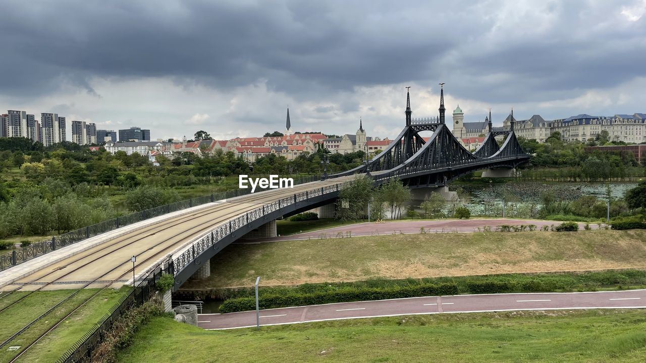
[[[646,73],[645,21],[600,26],[621,8],[607,3],[530,3],[501,19],[499,1],[5,1],[0,93],[95,94],[99,76],[266,79],[297,99],[408,81],[482,101],[567,98]]]

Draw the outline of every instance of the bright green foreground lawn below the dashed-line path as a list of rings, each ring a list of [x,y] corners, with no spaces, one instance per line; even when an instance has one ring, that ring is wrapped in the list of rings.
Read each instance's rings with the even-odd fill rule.
[[[119,362],[643,362],[644,311],[393,316],[205,331],[154,318]]]

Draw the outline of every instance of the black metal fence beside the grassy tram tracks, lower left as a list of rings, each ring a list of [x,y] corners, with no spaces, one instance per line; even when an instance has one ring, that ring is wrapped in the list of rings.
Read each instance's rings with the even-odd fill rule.
[[[83,337],[74,343],[57,360],[57,363],[81,363],[91,362],[92,353],[96,347],[103,342],[110,328],[126,311],[132,307],[140,306],[152,298],[155,291],[155,284],[162,273],[172,274],[172,261],[168,260],[151,269],[146,275],[140,276],[134,288],[126,295],[121,296],[119,301],[110,308],[108,313],[94,324]]]

